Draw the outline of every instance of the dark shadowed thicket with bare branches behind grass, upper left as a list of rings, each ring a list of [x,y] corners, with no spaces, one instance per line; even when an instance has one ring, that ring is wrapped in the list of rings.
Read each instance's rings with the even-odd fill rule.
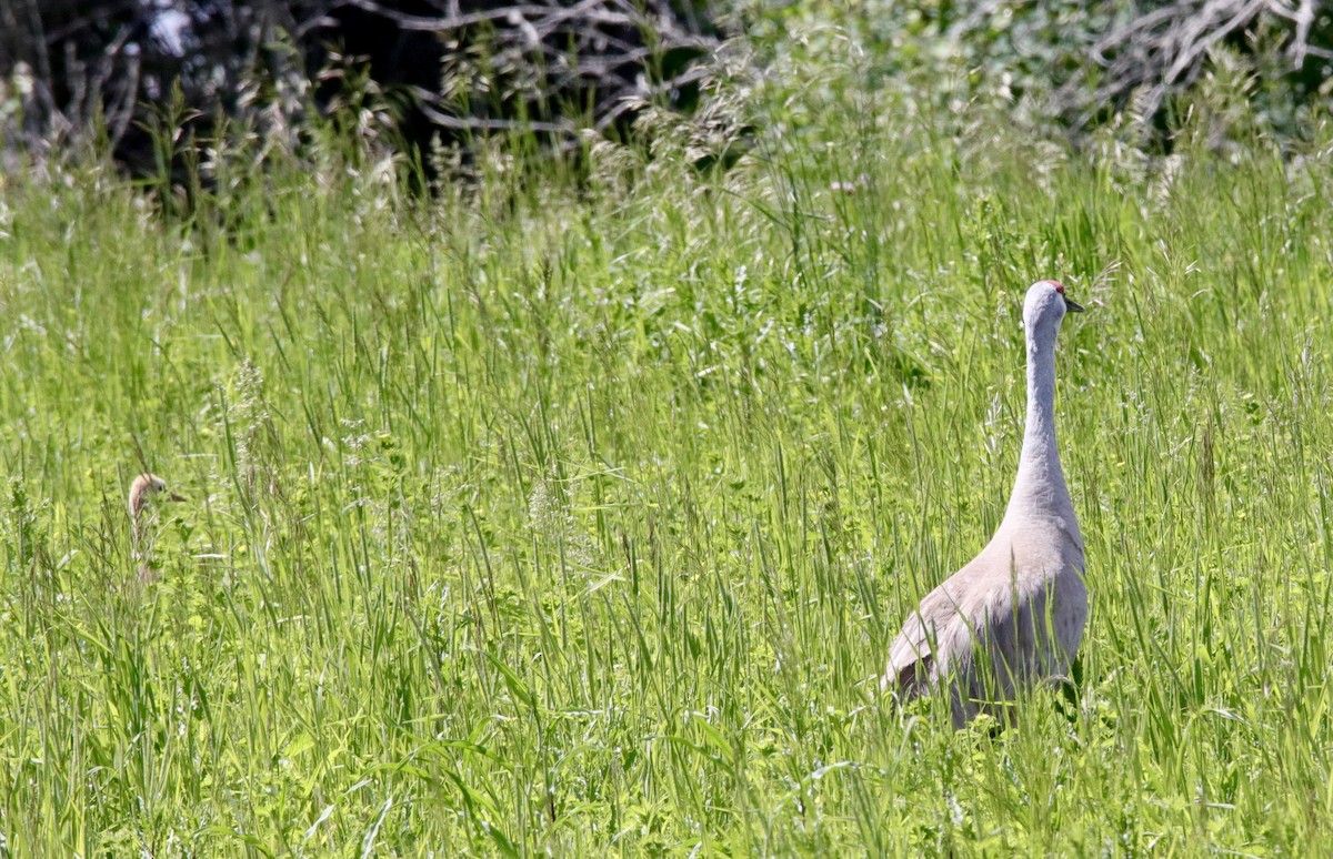
[[[7,143],[99,135],[136,173],[163,168],[163,131],[228,117],[296,143],[309,112],[368,104],[409,153],[511,132],[568,148],[690,108],[725,35],[706,0],[8,0],[0,32]]]

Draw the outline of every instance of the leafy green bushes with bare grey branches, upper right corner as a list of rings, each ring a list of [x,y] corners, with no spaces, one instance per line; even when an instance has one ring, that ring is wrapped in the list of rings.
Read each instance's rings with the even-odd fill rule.
[[[1333,7],[1314,0],[930,1],[866,27],[874,75],[937,65],[948,97],[1000,89],[1012,119],[1076,140],[1128,115],[1140,144],[1169,145],[1177,97],[1220,67],[1280,136],[1333,95]]]

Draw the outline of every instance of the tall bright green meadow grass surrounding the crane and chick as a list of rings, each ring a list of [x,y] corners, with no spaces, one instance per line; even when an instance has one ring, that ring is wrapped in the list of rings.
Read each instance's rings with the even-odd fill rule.
[[[243,149],[187,224],[4,177],[5,850],[1330,843],[1333,132],[1142,162],[833,84],[752,93],[722,174],[668,139],[425,204]],[[954,732],[876,675],[1002,513],[1040,277],[1090,310],[1082,683]],[[189,498],[149,585],[144,467]]]

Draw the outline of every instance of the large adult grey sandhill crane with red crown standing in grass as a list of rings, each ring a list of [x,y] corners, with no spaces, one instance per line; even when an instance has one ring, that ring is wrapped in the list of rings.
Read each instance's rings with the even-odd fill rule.
[[[1056,447],[1056,334],[1082,308],[1058,281],[1028,288],[1028,420],[994,537],[926,594],[889,649],[881,687],[900,701],[948,686],[961,727],[1020,686],[1068,674],[1084,623],[1084,542]]]

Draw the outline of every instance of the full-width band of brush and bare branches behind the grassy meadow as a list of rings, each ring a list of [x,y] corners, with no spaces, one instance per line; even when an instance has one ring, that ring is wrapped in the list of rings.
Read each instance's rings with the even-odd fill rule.
[[[309,116],[375,132],[429,166],[481,137],[571,150],[643,109],[693,111],[722,43],[757,48],[822,4],[713,0],[5,0],[3,146],[100,144],[180,177],[225,120],[299,148]],[[725,13],[724,13],[725,12]],[[1012,120],[1076,140],[1130,116],[1170,145],[1177,96],[1218,63],[1264,128],[1298,136],[1333,93],[1333,12],[1312,0],[1084,4],[930,0],[838,7],[876,81],[936,75],[941,100],[1000,91]],[[720,21],[734,24],[722,25]],[[1234,60],[1234,61],[1233,61]]]

